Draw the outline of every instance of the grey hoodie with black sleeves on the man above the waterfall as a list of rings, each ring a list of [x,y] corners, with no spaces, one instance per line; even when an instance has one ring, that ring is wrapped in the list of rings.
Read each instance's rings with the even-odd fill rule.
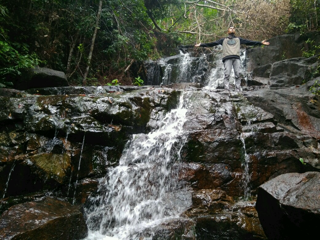
[[[222,45],[222,62],[228,58],[238,58],[240,59],[240,44],[245,45],[262,45],[261,42],[251,41],[243,39],[241,37],[227,37],[221,38],[218,41],[212,43],[202,43],[200,47],[214,47],[217,45]]]

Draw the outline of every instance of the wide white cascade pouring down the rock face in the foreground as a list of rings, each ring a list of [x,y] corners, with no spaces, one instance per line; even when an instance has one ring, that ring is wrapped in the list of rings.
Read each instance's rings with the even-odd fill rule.
[[[150,229],[191,204],[178,181],[180,151],[188,137],[183,129],[191,108],[188,94],[181,93],[178,108],[166,114],[156,131],[134,134],[119,166],[100,181],[99,196],[89,198],[86,209],[87,239],[152,239]]]

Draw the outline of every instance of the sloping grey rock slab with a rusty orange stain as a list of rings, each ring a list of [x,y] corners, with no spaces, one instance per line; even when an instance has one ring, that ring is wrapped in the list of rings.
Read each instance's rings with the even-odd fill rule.
[[[271,113],[278,126],[320,139],[320,97],[306,92],[304,87],[257,90],[244,96],[254,106]]]

